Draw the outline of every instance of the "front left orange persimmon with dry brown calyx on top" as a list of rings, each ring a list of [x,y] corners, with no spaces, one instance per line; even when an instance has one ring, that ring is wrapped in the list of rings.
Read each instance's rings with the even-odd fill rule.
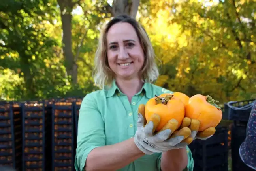
[[[185,115],[185,107],[182,101],[172,94],[161,94],[147,101],[145,105],[145,118],[149,120],[152,114],[160,116],[160,123],[156,131],[160,131],[162,127],[171,119],[178,121],[178,127],[181,126]]]

